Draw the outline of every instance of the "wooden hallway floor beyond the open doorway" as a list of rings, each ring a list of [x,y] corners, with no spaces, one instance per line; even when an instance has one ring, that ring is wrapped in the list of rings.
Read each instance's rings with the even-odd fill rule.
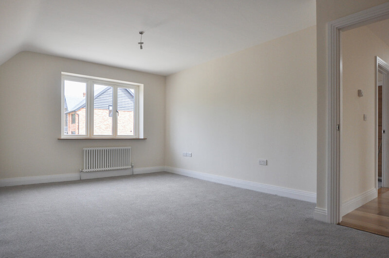
[[[378,197],[343,216],[339,223],[389,237],[389,188],[378,189]]]

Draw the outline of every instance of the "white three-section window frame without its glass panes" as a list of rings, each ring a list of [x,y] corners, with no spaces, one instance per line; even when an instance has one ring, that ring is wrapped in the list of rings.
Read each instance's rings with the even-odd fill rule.
[[[62,72],[61,86],[61,139],[142,139],[143,138],[143,84],[128,81],[119,81],[105,79],[100,77],[79,75],[73,73]],[[85,135],[65,134],[65,86],[64,82],[79,81],[86,83],[86,121]],[[94,105],[94,84],[103,84],[113,87],[113,103],[112,103],[112,135],[93,135],[93,105]],[[117,89],[129,88],[134,90],[134,135],[118,135],[117,134]],[[115,109],[116,107],[116,109]],[[69,126],[69,125],[68,125]]]

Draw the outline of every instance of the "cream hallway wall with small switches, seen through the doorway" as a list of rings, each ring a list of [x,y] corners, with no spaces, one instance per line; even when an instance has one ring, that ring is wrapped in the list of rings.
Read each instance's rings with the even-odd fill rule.
[[[367,26],[342,32],[342,202],[375,187],[375,56],[389,61],[389,46]],[[358,97],[358,89],[363,97]],[[367,115],[367,121],[363,120]]]

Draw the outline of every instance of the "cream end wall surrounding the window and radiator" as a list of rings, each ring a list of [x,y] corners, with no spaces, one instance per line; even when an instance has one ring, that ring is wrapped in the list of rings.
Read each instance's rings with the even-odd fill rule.
[[[144,84],[147,140],[58,140],[61,72]],[[131,146],[135,166],[164,165],[165,77],[32,52],[0,66],[0,179],[77,173],[83,147]]]

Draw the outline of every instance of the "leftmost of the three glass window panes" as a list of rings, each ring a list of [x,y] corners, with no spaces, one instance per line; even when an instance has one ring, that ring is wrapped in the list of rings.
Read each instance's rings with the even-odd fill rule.
[[[85,135],[87,84],[64,81],[64,134]]]

